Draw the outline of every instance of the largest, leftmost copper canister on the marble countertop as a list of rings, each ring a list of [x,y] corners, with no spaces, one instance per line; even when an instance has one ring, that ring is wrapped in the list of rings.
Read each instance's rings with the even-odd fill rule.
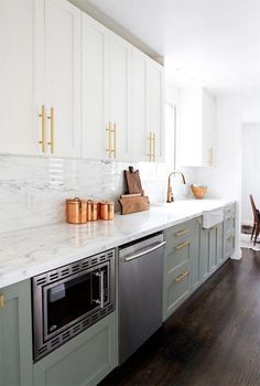
[[[87,223],[87,202],[78,197],[66,200],[66,221],[69,224]]]

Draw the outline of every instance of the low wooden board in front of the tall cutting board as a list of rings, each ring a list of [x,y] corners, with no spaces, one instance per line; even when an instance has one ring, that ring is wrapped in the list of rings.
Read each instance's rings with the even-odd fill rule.
[[[150,210],[149,197],[139,194],[122,194],[118,200],[121,205],[121,214],[130,214]]]

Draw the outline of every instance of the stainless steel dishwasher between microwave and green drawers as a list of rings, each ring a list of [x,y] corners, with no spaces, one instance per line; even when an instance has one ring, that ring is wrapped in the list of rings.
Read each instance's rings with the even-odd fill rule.
[[[162,324],[163,234],[119,248],[119,363]]]

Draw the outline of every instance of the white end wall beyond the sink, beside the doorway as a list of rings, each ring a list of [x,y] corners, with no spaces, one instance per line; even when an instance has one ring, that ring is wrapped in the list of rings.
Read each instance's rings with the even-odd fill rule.
[[[240,234],[241,206],[241,99],[226,95],[217,97],[215,167],[199,168],[197,182],[208,186],[208,197],[236,200],[239,204],[237,234]],[[236,256],[239,237],[236,240]],[[235,257],[236,257],[235,256]]]

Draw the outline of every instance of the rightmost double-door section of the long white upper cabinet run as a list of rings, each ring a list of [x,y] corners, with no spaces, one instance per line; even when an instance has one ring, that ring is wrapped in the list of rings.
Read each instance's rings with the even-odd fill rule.
[[[163,68],[132,49],[131,138],[136,161],[164,160]]]

